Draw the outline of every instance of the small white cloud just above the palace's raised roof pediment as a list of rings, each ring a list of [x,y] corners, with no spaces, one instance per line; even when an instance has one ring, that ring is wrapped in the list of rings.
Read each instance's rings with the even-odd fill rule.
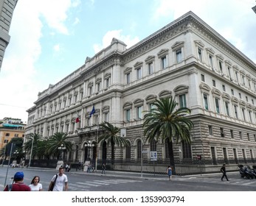
[[[134,46],[134,44],[139,42],[139,38],[138,37],[134,37],[131,38],[130,35],[122,35],[121,34],[122,29],[120,30],[112,30],[112,31],[108,31],[106,32],[106,34],[103,37],[103,42],[94,44],[94,52],[97,53],[99,52],[101,49],[104,49],[105,47],[109,46],[111,43],[111,40],[113,38],[117,38],[118,40],[122,40],[126,45],[127,45],[127,49],[131,46]]]

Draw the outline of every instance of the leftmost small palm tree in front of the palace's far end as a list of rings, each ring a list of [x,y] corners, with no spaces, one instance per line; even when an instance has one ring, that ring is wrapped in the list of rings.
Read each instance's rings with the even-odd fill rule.
[[[42,140],[42,135],[40,133],[30,133],[28,134],[28,140],[24,143],[24,150],[32,152],[32,158],[34,158],[38,153],[38,145]]]

